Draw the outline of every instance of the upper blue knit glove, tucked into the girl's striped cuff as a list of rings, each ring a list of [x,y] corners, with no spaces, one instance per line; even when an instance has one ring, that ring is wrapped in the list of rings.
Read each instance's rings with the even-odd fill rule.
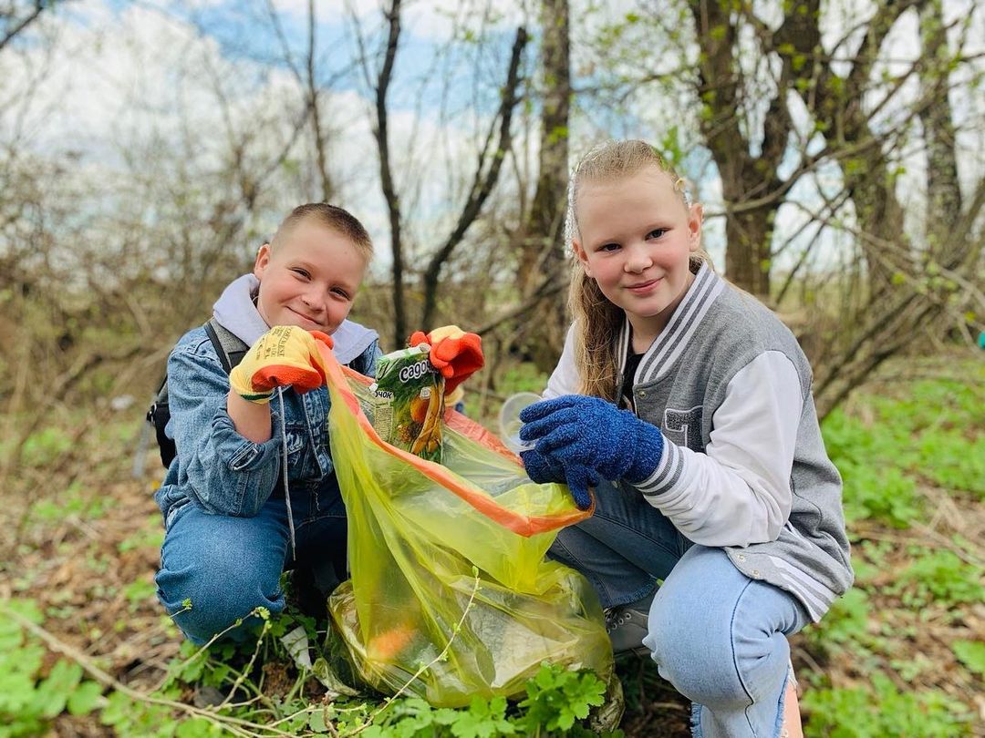
[[[604,479],[635,484],[656,471],[664,453],[657,426],[599,398],[565,395],[534,402],[520,420],[520,440],[533,442],[542,457],[565,472],[585,466]]]

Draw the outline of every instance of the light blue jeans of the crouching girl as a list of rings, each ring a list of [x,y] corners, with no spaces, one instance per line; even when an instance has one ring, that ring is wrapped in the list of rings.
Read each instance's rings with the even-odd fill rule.
[[[604,607],[657,589],[643,645],[693,703],[695,736],[776,736],[790,636],[809,622],[789,592],[752,580],[720,548],[694,545],[632,489],[599,485],[595,515],[550,555],[585,575]]]

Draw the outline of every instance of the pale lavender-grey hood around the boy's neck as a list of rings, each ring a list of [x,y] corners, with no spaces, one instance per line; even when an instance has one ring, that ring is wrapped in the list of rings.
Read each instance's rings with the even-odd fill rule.
[[[231,281],[212,306],[212,314],[219,325],[248,346],[271,328],[253,304],[253,297],[259,288],[259,279],[253,275],[243,275]],[[335,340],[335,357],[340,364],[348,364],[378,340],[379,334],[359,323],[345,320],[332,338]]]

